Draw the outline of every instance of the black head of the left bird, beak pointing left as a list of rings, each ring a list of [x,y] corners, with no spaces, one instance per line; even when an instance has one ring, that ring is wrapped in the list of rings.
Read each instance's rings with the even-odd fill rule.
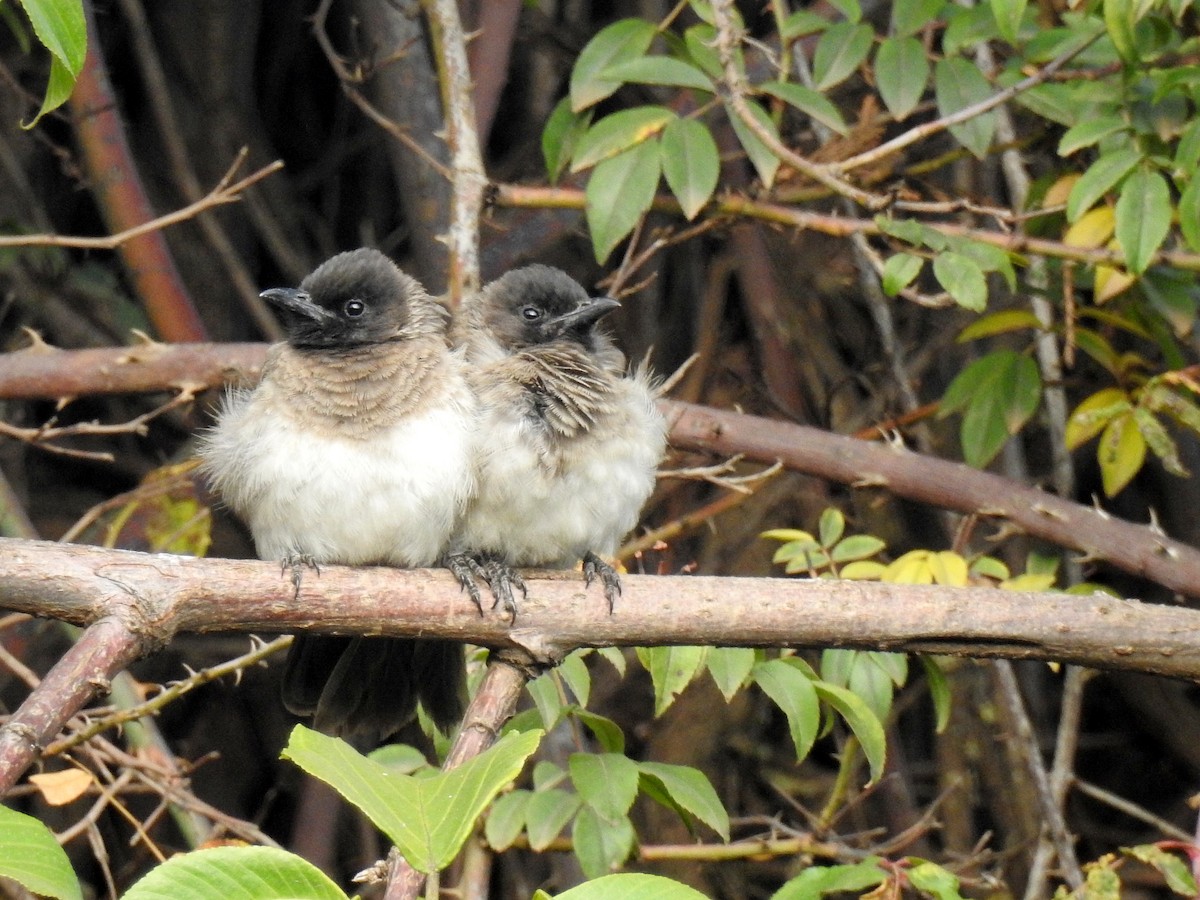
[[[420,283],[367,247],[330,257],[299,288],[262,296],[299,348],[342,349],[444,330],[445,313]]]

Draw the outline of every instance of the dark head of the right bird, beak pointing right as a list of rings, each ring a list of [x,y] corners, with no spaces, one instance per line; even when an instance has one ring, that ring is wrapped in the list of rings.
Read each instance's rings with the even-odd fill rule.
[[[596,323],[619,302],[588,296],[562,269],[527,265],[485,288],[484,324],[502,346],[522,349],[553,341],[572,341],[595,352],[607,346]]]

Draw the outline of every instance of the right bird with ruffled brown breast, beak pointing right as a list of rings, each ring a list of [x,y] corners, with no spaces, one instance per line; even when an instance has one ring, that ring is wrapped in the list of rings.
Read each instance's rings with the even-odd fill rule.
[[[481,575],[514,620],[512,588],[524,588],[516,566],[582,562],[589,586],[602,581],[610,613],[620,594],[607,557],[654,490],[666,422],[647,368],[626,373],[599,326],[619,306],[534,264],[468,298],[451,329],[470,366],[481,439],[478,488],[449,565],[468,589]]]

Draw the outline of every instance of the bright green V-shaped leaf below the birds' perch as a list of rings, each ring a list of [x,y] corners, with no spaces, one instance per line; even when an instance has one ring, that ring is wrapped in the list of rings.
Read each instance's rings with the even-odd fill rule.
[[[400,775],[367,760],[344,740],[298,725],[282,756],[366,814],[422,872],[450,864],[475,820],[515,779],[538,749],[541,731],[509,733],[450,772]]]

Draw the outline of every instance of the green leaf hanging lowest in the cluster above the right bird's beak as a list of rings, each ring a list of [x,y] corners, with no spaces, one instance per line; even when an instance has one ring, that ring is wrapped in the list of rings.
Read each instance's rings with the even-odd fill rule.
[[[638,144],[605,160],[592,173],[584,193],[588,230],[596,262],[602,263],[642,214],[654,203],[659,186],[659,145]]]

